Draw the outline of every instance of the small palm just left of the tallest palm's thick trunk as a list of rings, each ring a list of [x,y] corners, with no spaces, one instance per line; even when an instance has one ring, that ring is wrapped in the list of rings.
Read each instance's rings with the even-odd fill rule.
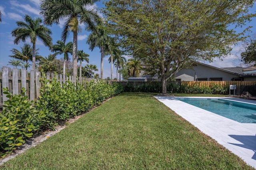
[[[65,75],[66,71],[66,61],[68,61],[68,53],[72,54],[72,46],[73,43],[69,42],[65,45],[64,42],[58,40],[57,44],[52,45],[52,52],[55,52],[53,55],[62,55],[64,54],[64,63],[63,63],[63,75]]]

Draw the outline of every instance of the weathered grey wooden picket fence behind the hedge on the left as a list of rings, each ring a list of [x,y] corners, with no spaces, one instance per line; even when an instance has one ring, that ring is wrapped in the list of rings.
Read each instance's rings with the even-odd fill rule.
[[[41,72],[34,70],[24,70],[8,67],[2,67],[2,71],[0,72],[0,108],[3,106],[3,102],[7,101],[8,98],[6,94],[3,93],[3,88],[8,88],[12,91],[12,94],[21,94],[21,89],[26,89],[26,95],[29,100],[34,100],[38,98],[40,95],[41,83],[39,78],[41,77]],[[54,74],[54,73],[46,73],[46,78],[48,80],[52,80],[52,78],[56,78],[60,85],[66,84],[69,80],[70,82],[76,84],[76,82],[90,82],[91,80],[96,80],[92,78],[84,78],[79,77],[78,80],[74,78],[74,76],[65,76],[62,74]],[[84,84],[85,86],[85,84]]]

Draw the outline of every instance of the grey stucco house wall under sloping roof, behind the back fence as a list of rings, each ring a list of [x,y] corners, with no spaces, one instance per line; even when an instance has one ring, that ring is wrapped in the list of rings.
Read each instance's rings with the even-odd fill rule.
[[[175,78],[181,79],[181,81],[196,81],[197,78],[207,78],[207,81],[210,81],[210,78],[222,78],[222,81],[232,81],[233,78],[239,78],[239,76],[198,63],[197,66],[193,66],[193,69],[180,70]]]

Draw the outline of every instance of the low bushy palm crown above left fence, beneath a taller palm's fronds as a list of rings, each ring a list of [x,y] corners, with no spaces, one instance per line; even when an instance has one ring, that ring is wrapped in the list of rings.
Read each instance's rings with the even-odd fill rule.
[[[26,68],[26,70],[28,69],[28,67],[30,66],[30,64],[28,64],[29,61],[32,61],[32,47],[31,45],[24,43],[23,47],[20,47],[21,51],[17,50],[17,49],[12,49],[10,51],[12,51],[13,55],[9,55],[9,57],[13,57],[15,59],[19,59],[24,65],[24,68]],[[38,55],[38,50],[36,49],[36,60],[39,60],[42,58],[42,56]]]

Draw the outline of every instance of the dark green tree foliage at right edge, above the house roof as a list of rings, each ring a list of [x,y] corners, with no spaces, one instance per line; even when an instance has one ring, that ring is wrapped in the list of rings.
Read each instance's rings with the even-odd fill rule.
[[[244,63],[256,66],[256,40],[251,41],[246,50],[241,53],[241,57]]]

